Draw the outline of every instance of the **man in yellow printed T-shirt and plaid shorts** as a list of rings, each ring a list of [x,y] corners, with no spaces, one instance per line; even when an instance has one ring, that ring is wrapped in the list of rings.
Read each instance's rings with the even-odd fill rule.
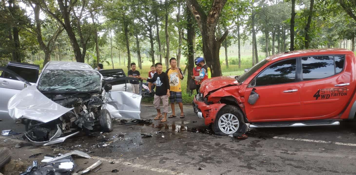
[[[180,86],[180,80],[183,80],[183,72],[181,69],[177,67],[177,60],[176,58],[171,58],[169,59],[169,64],[171,64],[171,68],[169,68],[166,73],[169,78],[169,86],[170,92],[171,92],[171,97],[169,98],[169,101],[171,102],[171,108],[172,108],[172,115],[169,116],[168,118],[176,117],[176,111],[174,109],[174,101],[176,101],[179,104],[180,108],[180,118],[184,118],[184,113],[183,113],[183,100],[182,100],[182,87]]]

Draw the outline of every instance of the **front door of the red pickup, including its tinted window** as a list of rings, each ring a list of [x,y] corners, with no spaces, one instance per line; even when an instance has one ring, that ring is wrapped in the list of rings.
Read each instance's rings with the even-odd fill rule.
[[[246,88],[245,110],[249,121],[293,120],[300,117],[300,85],[296,77],[297,59],[272,63]],[[259,95],[255,104],[247,103],[252,90]]]

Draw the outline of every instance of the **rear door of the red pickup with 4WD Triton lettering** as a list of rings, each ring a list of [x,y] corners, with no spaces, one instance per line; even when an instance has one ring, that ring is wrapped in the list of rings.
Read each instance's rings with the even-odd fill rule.
[[[344,110],[355,86],[351,59],[350,55],[307,56],[301,59],[303,118],[327,119]]]

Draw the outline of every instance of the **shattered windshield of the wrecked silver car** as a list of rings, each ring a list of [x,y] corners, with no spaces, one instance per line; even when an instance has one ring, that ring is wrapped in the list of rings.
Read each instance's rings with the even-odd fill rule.
[[[45,70],[38,89],[42,91],[100,91],[100,75],[95,71]]]

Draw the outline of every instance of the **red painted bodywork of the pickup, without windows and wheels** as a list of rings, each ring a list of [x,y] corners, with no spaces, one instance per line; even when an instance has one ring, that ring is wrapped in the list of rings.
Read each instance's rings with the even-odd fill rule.
[[[249,86],[260,72],[278,61],[325,55],[345,55],[345,63],[340,73],[314,80],[303,79],[283,84]],[[299,50],[272,55],[266,58],[266,61],[268,62],[252,73],[244,82],[239,83],[235,78],[214,77],[201,84],[200,93],[203,94],[203,97],[199,100],[194,98],[194,104],[201,110],[206,125],[215,121],[216,114],[226,105],[225,102],[230,104],[233,102],[238,105],[250,123],[353,119],[351,116],[354,114],[350,114],[350,111],[356,100],[356,58],[352,51],[346,49]],[[298,61],[296,64],[301,66]],[[350,84],[335,86],[344,83]],[[255,92],[259,94],[260,98],[251,105],[247,101],[253,88],[256,89]],[[292,89],[297,91],[284,92]]]

